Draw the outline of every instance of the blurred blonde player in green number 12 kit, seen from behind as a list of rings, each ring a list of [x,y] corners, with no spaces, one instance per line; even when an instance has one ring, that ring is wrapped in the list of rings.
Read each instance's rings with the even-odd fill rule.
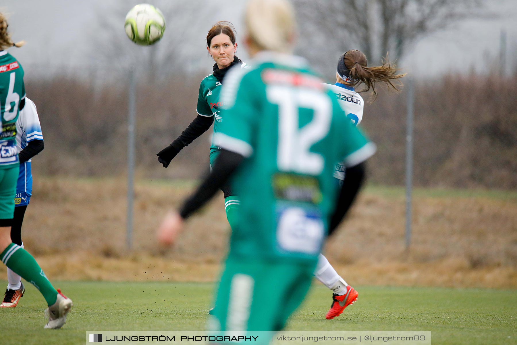
[[[231,178],[240,217],[209,323],[224,335],[284,327],[309,290],[329,230],[353,202],[363,161],[375,151],[305,60],[289,54],[295,32],[288,2],[251,0],[246,23],[256,59],[225,79],[224,121],[213,140],[221,153],[179,215],[165,218],[158,232],[163,243],[173,241],[182,219]],[[340,161],[350,167],[341,190],[332,176]]]

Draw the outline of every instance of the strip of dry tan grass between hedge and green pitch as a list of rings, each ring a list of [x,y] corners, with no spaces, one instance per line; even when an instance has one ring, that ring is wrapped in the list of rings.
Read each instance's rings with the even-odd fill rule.
[[[229,235],[222,196],[189,220],[174,248],[160,248],[154,238],[161,217],[192,187],[178,180],[138,183],[128,251],[124,178],[36,175],[25,247],[52,279],[212,281]],[[402,193],[367,188],[328,244],[327,258],[354,284],[517,288],[515,193],[435,194],[417,191],[406,252]]]

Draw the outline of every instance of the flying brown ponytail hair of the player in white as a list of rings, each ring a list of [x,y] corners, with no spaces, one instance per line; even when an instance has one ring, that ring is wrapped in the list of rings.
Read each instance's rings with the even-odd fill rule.
[[[383,82],[388,87],[391,87],[395,91],[399,92],[400,89],[397,86],[401,86],[402,83],[398,82],[398,85],[393,84],[393,80],[400,79],[406,75],[406,73],[398,74],[397,66],[390,63],[387,57],[383,59],[382,66],[368,67],[368,60],[366,56],[358,50],[349,50],[343,55],[343,62],[346,69],[349,71],[351,81],[349,84],[352,86],[364,83],[366,88],[361,92],[369,91],[373,92],[373,99],[377,97],[377,91],[375,90],[375,84]]]

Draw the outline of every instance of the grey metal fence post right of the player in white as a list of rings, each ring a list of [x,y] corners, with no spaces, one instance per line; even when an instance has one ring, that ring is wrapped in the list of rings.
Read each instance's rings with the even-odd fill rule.
[[[411,243],[412,192],[413,192],[413,110],[415,85],[409,79],[407,85],[407,117],[406,117],[406,251]]]

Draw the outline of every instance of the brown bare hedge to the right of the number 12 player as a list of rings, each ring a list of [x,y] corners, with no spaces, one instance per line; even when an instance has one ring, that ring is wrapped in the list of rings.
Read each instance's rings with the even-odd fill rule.
[[[415,99],[414,176],[419,186],[517,187],[515,78],[446,76],[419,83]],[[382,95],[362,125],[379,146],[372,179],[403,184],[405,103]]]

